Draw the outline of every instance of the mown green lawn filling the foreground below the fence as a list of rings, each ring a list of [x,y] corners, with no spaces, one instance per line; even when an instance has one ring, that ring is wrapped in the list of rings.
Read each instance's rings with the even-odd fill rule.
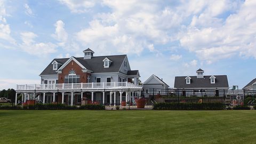
[[[256,143],[256,110],[0,110],[0,143]]]

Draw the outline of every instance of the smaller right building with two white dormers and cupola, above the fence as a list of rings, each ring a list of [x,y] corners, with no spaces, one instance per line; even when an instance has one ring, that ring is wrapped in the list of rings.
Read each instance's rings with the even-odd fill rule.
[[[198,69],[197,76],[177,76],[174,81],[176,89],[228,90],[227,75],[204,76],[204,70]]]

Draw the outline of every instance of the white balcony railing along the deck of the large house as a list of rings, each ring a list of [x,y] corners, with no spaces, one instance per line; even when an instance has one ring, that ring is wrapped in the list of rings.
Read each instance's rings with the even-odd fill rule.
[[[111,83],[72,83],[72,84],[34,84],[17,85],[17,90],[53,90],[53,89],[115,89],[115,87],[141,87],[129,82]]]

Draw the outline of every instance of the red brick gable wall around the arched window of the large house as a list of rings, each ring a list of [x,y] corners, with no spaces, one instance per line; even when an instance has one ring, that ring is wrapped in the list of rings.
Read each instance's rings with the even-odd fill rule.
[[[62,73],[59,74],[59,84],[65,82],[65,76],[68,75],[69,71],[72,69],[76,71],[76,75],[80,75],[80,83],[87,83],[87,76],[91,74],[83,73],[82,68],[74,60],[72,60],[68,63],[68,65],[65,68],[62,69]]]

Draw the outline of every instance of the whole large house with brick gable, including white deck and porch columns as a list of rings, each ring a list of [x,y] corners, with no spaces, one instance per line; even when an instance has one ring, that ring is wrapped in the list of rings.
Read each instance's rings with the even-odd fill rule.
[[[41,84],[17,85],[22,101],[36,99],[43,103],[60,102],[80,105],[82,99],[105,105],[134,101],[139,86],[139,70],[131,70],[127,55],[94,57],[91,49],[84,57],[53,59],[39,75]],[[133,92],[130,92],[130,89]],[[28,90],[40,90],[28,93]]]

